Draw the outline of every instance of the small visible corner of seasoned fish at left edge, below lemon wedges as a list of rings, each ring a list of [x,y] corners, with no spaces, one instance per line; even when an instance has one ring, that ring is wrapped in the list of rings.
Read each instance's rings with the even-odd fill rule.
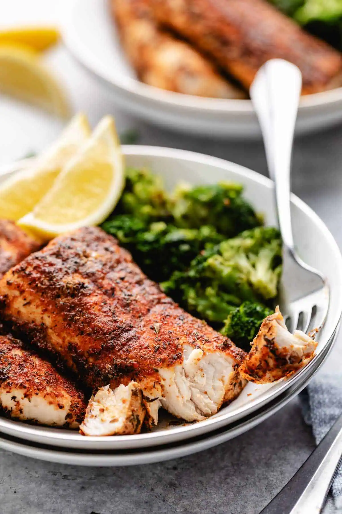
[[[12,266],[39,250],[41,246],[14,222],[0,219],[0,278]]]

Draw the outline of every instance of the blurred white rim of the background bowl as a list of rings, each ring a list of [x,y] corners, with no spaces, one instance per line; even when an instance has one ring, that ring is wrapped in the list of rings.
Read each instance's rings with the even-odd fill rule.
[[[115,74],[111,72],[107,66],[104,66],[96,57],[87,49],[87,44],[79,38],[78,32],[75,30],[73,22],[74,16],[77,20],[82,20],[79,16],[78,6],[82,5],[82,12],[86,10],[85,2],[91,2],[97,5],[96,8],[103,8],[102,4],[107,3],[106,0],[72,0],[68,3],[67,16],[63,27],[63,41],[73,55],[73,57],[85,69],[90,71],[93,76],[99,78],[108,86],[126,91],[131,98],[137,97],[140,101],[148,101],[154,104],[163,104],[164,106],[180,107],[189,111],[199,111],[207,114],[216,115],[253,115],[254,109],[252,102],[248,99],[222,99],[222,98],[206,98],[195,95],[187,95],[184,93],[175,93],[167,91],[149,84],[144,84],[137,79],[125,75]],[[108,15],[108,21],[112,24]],[[305,95],[300,98],[299,112],[311,111],[311,109],[319,109],[323,106],[333,106],[342,102],[342,87],[337,87],[328,91],[321,91],[311,95]]]

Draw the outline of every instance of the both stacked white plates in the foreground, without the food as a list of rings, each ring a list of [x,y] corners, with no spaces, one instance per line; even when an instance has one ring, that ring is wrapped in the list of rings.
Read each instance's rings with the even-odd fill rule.
[[[193,185],[231,180],[245,186],[245,196],[266,223],[276,223],[272,182],[237,164],[192,152],[124,146],[128,166],[149,168],[167,188],[185,180]],[[15,173],[23,164],[3,170]],[[1,177],[0,177],[1,179]],[[84,437],[76,432],[35,427],[0,418],[0,447],[44,460],[90,465],[142,464],[188,455],[235,437],[257,425],[303,389],[329,353],[342,313],[342,258],[327,227],[299,198],[292,197],[294,237],[300,256],[328,277],[331,303],[319,334],[316,357],[290,379],[266,386],[248,383],[242,394],[216,415],[195,424],[162,423],[150,433]]]

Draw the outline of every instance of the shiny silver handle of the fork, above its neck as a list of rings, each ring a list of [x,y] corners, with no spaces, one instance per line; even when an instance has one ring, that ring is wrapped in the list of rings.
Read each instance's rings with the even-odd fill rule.
[[[291,158],[301,92],[301,73],[294,64],[271,59],[261,66],[250,97],[263,133],[269,174],[274,181],[283,244],[294,250],[291,228]]]

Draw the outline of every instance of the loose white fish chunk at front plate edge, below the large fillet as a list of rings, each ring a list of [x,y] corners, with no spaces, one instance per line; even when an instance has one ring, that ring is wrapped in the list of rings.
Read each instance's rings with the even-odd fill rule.
[[[138,434],[143,426],[143,392],[136,382],[120,384],[114,391],[99,388],[92,396],[79,430],[85,435]]]

